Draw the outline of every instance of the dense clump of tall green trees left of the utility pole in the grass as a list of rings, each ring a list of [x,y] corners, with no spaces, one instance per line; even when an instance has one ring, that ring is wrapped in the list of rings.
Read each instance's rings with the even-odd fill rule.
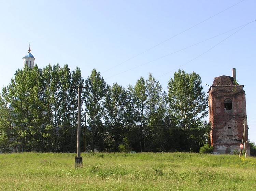
[[[77,84],[83,84],[80,69],[71,73],[67,65],[17,70],[2,90],[11,105],[10,117],[5,117],[9,146],[19,152],[74,151],[77,93],[71,86]]]

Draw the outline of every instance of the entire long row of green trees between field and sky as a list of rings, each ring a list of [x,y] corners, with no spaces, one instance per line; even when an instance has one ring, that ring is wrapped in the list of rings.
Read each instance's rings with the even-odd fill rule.
[[[0,151],[75,152],[74,86],[85,87],[81,151],[199,152],[209,141],[207,96],[195,72],[175,72],[166,92],[152,74],[125,88],[107,85],[95,69],[83,79],[78,67],[49,64],[18,69],[2,88]]]

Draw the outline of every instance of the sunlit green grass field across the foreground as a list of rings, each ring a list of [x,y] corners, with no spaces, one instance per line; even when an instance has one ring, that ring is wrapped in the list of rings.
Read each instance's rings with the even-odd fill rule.
[[[256,158],[197,153],[0,154],[0,190],[256,190]]]

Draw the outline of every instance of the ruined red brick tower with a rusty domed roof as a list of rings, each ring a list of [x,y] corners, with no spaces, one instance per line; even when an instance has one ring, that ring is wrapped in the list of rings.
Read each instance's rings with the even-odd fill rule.
[[[236,69],[233,68],[232,77],[215,77],[208,91],[211,146],[214,152],[232,154],[235,150],[240,151],[245,123],[246,152],[250,156],[243,87],[236,83]]]

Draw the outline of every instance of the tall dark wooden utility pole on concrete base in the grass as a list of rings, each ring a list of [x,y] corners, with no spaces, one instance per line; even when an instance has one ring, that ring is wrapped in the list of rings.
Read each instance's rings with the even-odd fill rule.
[[[81,90],[85,87],[72,87],[78,89],[78,114],[77,114],[77,154],[75,157],[75,168],[83,167],[83,158],[81,157],[81,146],[80,146],[80,136],[81,136]]]

